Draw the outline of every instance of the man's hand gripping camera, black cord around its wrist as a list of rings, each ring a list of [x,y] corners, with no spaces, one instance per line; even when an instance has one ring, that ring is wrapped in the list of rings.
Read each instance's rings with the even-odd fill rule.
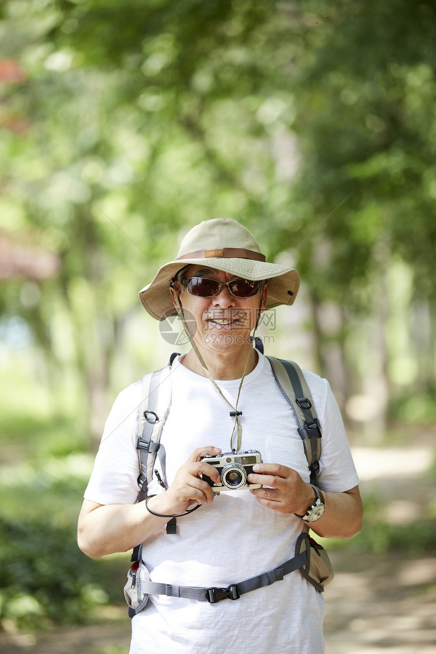
[[[178,469],[173,483],[164,493],[148,500],[148,506],[161,515],[180,515],[195,504],[212,504],[214,492],[199,475],[207,475],[218,483],[220,475],[214,466],[201,459],[205,455],[217,456],[219,447],[197,447],[186,463]]]

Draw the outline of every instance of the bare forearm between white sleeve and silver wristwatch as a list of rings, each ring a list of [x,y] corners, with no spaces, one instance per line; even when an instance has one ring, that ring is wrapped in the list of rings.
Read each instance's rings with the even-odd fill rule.
[[[359,487],[346,492],[325,493],[326,511],[310,529],[324,538],[352,538],[360,532],[363,507]]]

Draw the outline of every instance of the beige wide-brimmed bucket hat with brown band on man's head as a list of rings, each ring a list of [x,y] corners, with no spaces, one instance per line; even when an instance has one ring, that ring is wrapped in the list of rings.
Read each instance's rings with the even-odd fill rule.
[[[165,320],[177,315],[169,288],[177,271],[188,264],[223,270],[243,279],[267,279],[266,309],[293,304],[300,285],[294,268],[266,261],[252,233],[239,222],[231,218],[203,220],[186,234],[176,259],[162,266],[152,283],[139,291],[139,299],[151,316]]]

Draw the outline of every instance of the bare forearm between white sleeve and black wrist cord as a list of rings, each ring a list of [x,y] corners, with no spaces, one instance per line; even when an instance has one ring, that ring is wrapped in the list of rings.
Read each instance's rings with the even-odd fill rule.
[[[150,508],[159,513],[154,500],[150,498]],[[168,520],[149,513],[145,502],[101,505],[85,500],[78,519],[78,546],[93,559],[126,552],[150,538]]]

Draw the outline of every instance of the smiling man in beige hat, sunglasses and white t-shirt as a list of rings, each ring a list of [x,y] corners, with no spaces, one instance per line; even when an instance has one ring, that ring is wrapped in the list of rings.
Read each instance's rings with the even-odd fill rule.
[[[155,475],[147,502],[135,504],[141,383],[133,384],[112,407],[85,492],[78,543],[86,554],[144,543],[152,581],[222,588],[292,558],[307,530],[299,516],[313,509],[319,492],[309,484],[290,405],[250,334],[262,311],[291,305],[298,288],[297,271],[266,262],[248,230],[220,218],[193,228],[176,260],[141,290],[141,302],[158,320],[172,311],[190,317],[193,349],[173,362],[161,433],[167,490]],[[362,507],[343,422],[327,381],[309,372],[305,378],[322,430],[316,486],[326,506],[310,526],[320,536],[350,538],[360,530]],[[215,496],[202,475],[214,483],[220,475],[203,457],[229,452],[236,427],[237,449],[261,453],[263,463],[248,476],[261,487]],[[199,510],[178,517],[178,532],[167,534],[169,517],[193,506]],[[133,617],[130,652],[320,654],[323,615],[322,594],[299,572],[217,604],[152,594]]]

